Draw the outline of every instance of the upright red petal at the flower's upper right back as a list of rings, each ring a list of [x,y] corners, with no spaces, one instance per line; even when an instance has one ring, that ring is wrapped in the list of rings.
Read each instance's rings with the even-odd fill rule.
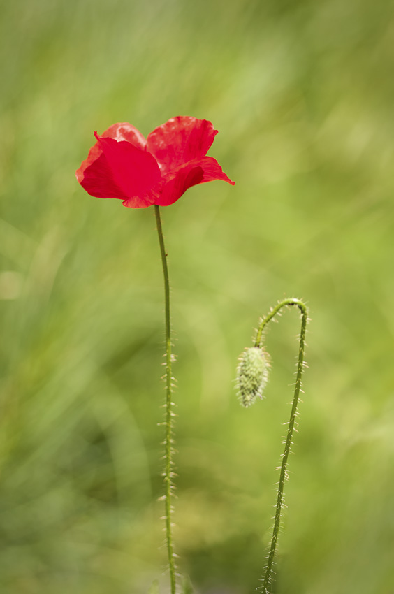
[[[165,175],[192,159],[205,157],[216,134],[207,119],[178,115],[149,134],[147,150]]]

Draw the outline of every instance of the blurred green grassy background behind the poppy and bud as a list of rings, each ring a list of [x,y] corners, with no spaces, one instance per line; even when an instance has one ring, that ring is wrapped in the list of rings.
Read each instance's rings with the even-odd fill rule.
[[[261,577],[300,320],[272,326],[267,398],[233,377],[285,296],[310,306],[276,594],[394,592],[393,5],[1,3],[0,586],[168,591],[163,284],[152,208],[75,169],[114,122],[210,119],[236,181],[162,210],[173,296],[180,569]],[[161,548],[160,548],[161,547]]]

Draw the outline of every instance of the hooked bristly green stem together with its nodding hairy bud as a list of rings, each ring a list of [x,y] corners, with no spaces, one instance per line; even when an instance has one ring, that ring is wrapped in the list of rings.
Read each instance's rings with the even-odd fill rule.
[[[286,470],[287,469],[287,461],[288,461],[290,450],[291,450],[291,444],[293,442],[293,430],[294,430],[294,426],[296,425],[297,406],[298,406],[298,400],[300,398],[302,371],[304,370],[304,367],[305,367],[305,363],[304,363],[305,334],[306,334],[306,330],[307,330],[307,321],[308,321],[307,306],[305,305],[305,303],[303,303],[300,299],[289,298],[289,299],[284,299],[283,301],[278,303],[275,307],[272,307],[272,309],[270,310],[270,313],[265,318],[262,319],[261,323],[259,324],[259,326],[257,328],[256,340],[254,343],[254,347],[245,349],[245,352],[247,353],[248,365],[243,364],[243,366],[240,365],[238,367],[238,377],[237,377],[238,389],[240,389],[240,386],[243,388],[244,392],[245,392],[245,386],[247,387],[247,389],[249,389],[249,392],[250,392],[249,395],[248,394],[245,395],[245,393],[243,393],[242,390],[240,389],[242,403],[244,404],[244,406],[249,406],[251,403],[254,403],[254,401],[256,400],[256,393],[258,393],[258,396],[262,396],[262,388],[266,382],[266,376],[265,377],[262,376],[262,371],[260,369],[261,365],[260,365],[260,368],[258,368],[258,366],[256,366],[256,365],[254,365],[254,359],[256,358],[255,350],[258,351],[261,349],[261,352],[265,353],[261,346],[262,339],[263,339],[263,331],[265,329],[265,326],[268,324],[269,321],[271,321],[279,313],[280,310],[282,310],[282,307],[291,306],[291,305],[298,307],[298,309],[301,312],[300,346],[298,349],[298,364],[297,364],[297,374],[296,374],[296,385],[295,385],[294,396],[293,396],[293,405],[291,407],[289,425],[287,428],[286,440],[285,440],[285,445],[284,445],[284,453],[282,456],[282,465],[280,467],[277,502],[275,505],[274,526],[272,528],[272,539],[271,539],[270,549],[268,551],[266,564],[264,567],[263,579],[261,580],[262,584],[261,584],[260,588],[258,588],[262,594],[270,594],[270,585],[272,584],[273,565],[274,565],[275,552],[277,549],[277,542],[278,542],[278,537],[279,537],[279,527],[280,527],[280,520],[281,520],[281,515],[282,515],[282,507],[284,507],[284,483],[285,483],[286,479],[288,478],[287,470]],[[253,352],[253,365],[251,365],[251,363],[249,361],[249,359],[251,358],[252,352]],[[264,358],[263,354],[261,356]],[[242,357],[241,361],[245,361],[245,354],[243,354],[241,357]],[[251,370],[254,370],[255,368],[256,368],[256,370],[258,370],[258,373],[260,375],[257,377],[258,373],[255,372],[256,377],[251,377]],[[249,375],[245,375],[245,370],[248,371]],[[245,377],[243,377],[242,373],[245,375]],[[263,377],[263,382],[261,382],[262,377]],[[256,385],[258,385],[259,382],[261,384],[261,388],[258,388],[258,390],[256,390]]]

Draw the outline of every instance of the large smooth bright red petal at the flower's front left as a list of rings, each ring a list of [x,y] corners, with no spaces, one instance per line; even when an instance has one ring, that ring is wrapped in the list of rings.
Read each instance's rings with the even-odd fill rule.
[[[124,140],[103,138],[95,132],[101,155],[85,168],[80,184],[98,198],[119,198],[131,208],[154,204],[152,192],[161,173],[152,154]]]

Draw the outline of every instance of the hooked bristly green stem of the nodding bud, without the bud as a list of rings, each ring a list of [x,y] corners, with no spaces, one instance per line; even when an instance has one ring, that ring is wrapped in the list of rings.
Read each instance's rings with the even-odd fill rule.
[[[267,564],[265,565],[265,572],[263,577],[263,586],[262,592],[263,594],[269,594],[269,586],[272,581],[272,565],[274,563],[275,551],[277,548],[277,540],[279,535],[279,525],[280,525],[280,518],[283,506],[283,495],[284,495],[284,481],[287,479],[287,460],[289,458],[289,453],[291,449],[291,442],[293,440],[293,430],[294,425],[296,423],[296,415],[297,415],[297,405],[300,396],[300,389],[301,389],[301,377],[302,377],[302,370],[304,368],[304,351],[305,351],[305,333],[307,328],[307,307],[302,301],[299,299],[285,299],[278,303],[276,307],[273,307],[270,314],[261,321],[260,326],[258,326],[257,335],[256,335],[256,342],[255,346],[260,347],[261,345],[261,338],[263,335],[263,329],[268,324],[270,320],[282,309],[282,307],[286,307],[286,305],[296,305],[300,309],[302,314],[301,320],[301,332],[300,332],[300,349],[298,352],[298,365],[297,365],[297,376],[296,376],[296,387],[294,389],[294,398],[293,398],[293,405],[291,407],[291,414],[289,420],[289,428],[287,429],[286,435],[286,442],[284,446],[284,453],[282,456],[282,465],[280,469],[280,476],[279,476],[279,486],[278,486],[278,494],[277,494],[277,505],[275,508],[275,519],[274,519],[274,528],[272,530],[272,539],[270,545],[270,551],[268,553]]]

